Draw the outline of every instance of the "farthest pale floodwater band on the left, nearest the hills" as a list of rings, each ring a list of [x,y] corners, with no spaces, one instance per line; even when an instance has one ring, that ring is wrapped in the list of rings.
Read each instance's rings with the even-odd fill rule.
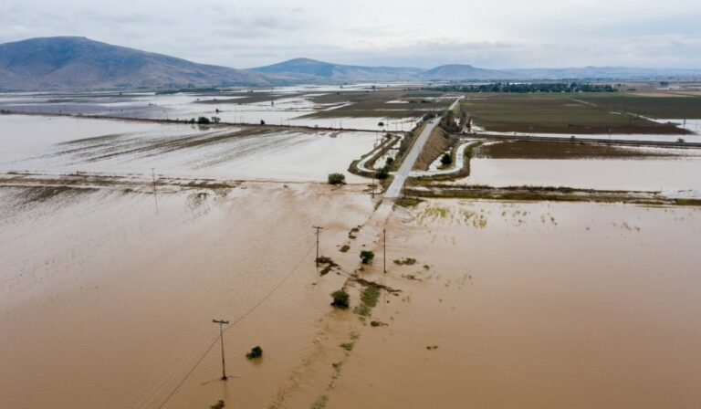
[[[158,95],[154,92],[85,92],[85,93],[10,93],[0,95],[0,108],[39,113],[74,113],[82,115],[116,116],[157,120],[189,120],[217,116],[230,123],[257,124],[265,121],[274,125],[303,125],[367,131],[410,131],[417,118],[390,120],[370,118],[306,118],[321,110],[339,108],[345,103],[317,104],[309,97],[331,92],[371,89],[370,84],[353,86],[306,86],[272,89],[249,89],[245,95],[266,93],[271,100],[236,102],[239,94],[175,93]],[[219,99],[219,103],[202,103]],[[274,101],[272,101],[274,100]],[[380,121],[387,125],[379,127]]]

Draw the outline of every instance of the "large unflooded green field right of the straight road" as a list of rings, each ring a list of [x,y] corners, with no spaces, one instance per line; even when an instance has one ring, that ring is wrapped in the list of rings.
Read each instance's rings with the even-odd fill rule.
[[[467,94],[461,108],[467,110],[475,123],[487,131],[570,134],[687,133],[671,125],[647,121],[636,115],[613,112],[599,106],[592,99],[601,95]]]

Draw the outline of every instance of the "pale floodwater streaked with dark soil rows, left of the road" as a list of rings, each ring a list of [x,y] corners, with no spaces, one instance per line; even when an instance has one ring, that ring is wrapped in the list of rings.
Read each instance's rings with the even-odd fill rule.
[[[87,118],[0,116],[0,171],[156,173],[324,181],[370,152],[374,132],[256,131]]]

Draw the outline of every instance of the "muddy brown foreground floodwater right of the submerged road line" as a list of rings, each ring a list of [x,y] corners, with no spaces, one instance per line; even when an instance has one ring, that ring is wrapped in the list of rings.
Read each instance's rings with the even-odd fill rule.
[[[432,200],[395,213],[388,258],[417,263],[389,264],[403,292],[372,317],[389,325],[361,326],[318,393],[334,408],[697,407],[699,229],[695,208]]]

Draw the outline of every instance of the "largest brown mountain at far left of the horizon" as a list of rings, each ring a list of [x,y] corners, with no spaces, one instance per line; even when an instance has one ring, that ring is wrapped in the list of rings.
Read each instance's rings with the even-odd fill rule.
[[[256,72],[196,64],[85,37],[0,44],[0,89],[105,89],[269,84]]]

